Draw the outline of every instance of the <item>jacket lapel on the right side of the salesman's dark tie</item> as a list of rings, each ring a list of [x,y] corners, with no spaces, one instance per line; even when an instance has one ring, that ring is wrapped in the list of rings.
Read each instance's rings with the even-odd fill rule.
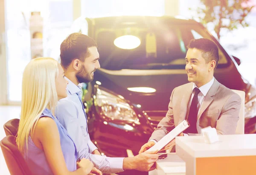
[[[212,96],[214,96],[215,93],[217,92],[219,85],[220,83],[216,79],[214,79],[212,87],[209,89],[208,93],[204,98],[203,104],[198,114],[198,120],[200,119],[202,113],[206,110],[206,108],[212,103],[212,100],[213,100]]]

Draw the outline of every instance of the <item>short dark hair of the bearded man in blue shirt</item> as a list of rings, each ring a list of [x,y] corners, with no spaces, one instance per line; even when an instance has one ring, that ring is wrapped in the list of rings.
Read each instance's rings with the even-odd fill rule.
[[[96,42],[87,35],[81,33],[70,34],[61,43],[61,65],[64,69],[67,69],[74,59],[84,62],[84,59],[90,56],[88,48],[93,46],[97,47]]]

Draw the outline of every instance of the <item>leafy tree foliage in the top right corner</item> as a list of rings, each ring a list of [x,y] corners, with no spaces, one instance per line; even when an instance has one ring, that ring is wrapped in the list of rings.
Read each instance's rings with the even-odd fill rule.
[[[247,27],[245,17],[254,6],[251,0],[201,0],[196,11],[200,22],[204,25],[213,23],[214,31],[220,39],[221,28],[232,31],[238,26]]]

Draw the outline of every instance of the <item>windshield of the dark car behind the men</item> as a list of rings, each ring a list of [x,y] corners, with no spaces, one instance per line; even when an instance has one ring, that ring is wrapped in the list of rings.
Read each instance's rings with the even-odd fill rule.
[[[185,20],[180,23],[166,20],[138,23],[130,20],[119,21],[116,25],[105,21],[101,25],[96,23],[93,28],[101,67],[108,70],[183,69],[186,46],[190,40],[202,37],[212,39],[200,25],[186,23]],[[227,64],[220,49],[219,54],[218,68]]]

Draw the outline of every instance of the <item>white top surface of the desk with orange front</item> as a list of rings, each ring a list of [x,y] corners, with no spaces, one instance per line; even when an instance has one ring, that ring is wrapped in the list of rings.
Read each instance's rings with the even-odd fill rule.
[[[203,136],[179,136],[176,145],[195,158],[256,155],[256,134],[219,135],[219,140],[207,144]]]

